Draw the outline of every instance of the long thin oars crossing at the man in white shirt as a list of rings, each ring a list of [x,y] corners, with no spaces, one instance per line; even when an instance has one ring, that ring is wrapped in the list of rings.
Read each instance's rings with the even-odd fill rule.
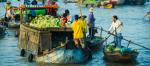
[[[98,27],[97,27],[97,28],[98,28]],[[100,28],[98,28],[98,29],[100,29]],[[104,29],[103,29],[102,31],[107,32],[107,33],[109,34],[109,36],[105,39],[105,41],[106,41],[111,35],[116,36],[116,35],[113,34],[113,33],[109,33],[109,31],[107,31],[107,30],[104,30]],[[140,44],[138,44],[138,43],[135,43],[135,42],[133,42],[133,41],[131,41],[131,40],[127,40],[126,38],[123,38],[123,40],[125,40],[125,41],[127,41],[127,42],[129,42],[129,43],[131,43],[131,44],[134,44],[134,45],[143,47],[143,48],[145,48],[145,49],[147,49],[147,50],[150,50],[150,48],[147,48],[147,47],[145,47],[145,46],[143,46],[143,45],[140,45]]]

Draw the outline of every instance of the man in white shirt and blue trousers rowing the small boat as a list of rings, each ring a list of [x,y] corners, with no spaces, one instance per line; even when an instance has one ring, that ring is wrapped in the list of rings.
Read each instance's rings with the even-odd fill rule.
[[[123,27],[123,23],[118,19],[116,15],[112,17],[112,24],[109,28],[109,33],[113,33],[114,36],[114,42],[116,47],[121,47],[121,40],[122,40],[122,34],[121,30]]]

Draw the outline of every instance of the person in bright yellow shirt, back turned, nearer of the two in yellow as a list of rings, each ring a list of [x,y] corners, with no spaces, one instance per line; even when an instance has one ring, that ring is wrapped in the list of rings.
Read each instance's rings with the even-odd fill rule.
[[[85,48],[84,34],[83,34],[84,30],[83,30],[83,27],[81,25],[78,15],[75,15],[75,21],[72,23],[72,30],[73,30],[73,39],[74,39],[75,45],[78,48],[79,48],[79,45],[81,45],[82,48]]]

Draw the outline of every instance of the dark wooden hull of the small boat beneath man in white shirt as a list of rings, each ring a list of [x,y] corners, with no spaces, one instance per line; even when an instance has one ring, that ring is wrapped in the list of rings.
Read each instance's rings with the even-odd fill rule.
[[[113,62],[130,62],[136,60],[139,52],[135,49],[130,50],[129,52],[121,52],[121,51],[108,51],[110,45],[106,45],[103,50],[104,59]],[[112,45],[114,46],[114,45]],[[125,47],[124,47],[125,48]],[[129,49],[129,48],[126,48]]]

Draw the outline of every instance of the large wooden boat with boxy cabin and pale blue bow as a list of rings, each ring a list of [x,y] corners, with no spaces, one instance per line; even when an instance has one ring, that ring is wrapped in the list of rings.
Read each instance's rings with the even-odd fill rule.
[[[37,29],[21,24],[18,44],[21,49],[20,55],[27,56],[29,62],[83,63],[89,59],[96,47],[102,45],[100,37],[92,40],[87,38],[86,49],[76,48],[72,33],[71,28]]]

